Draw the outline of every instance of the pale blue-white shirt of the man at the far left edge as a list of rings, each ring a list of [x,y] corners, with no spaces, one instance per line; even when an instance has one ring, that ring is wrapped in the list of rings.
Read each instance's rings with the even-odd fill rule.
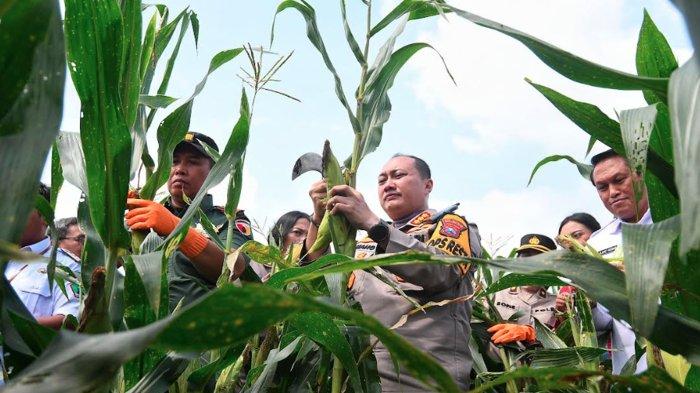
[[[48,257],[51,254],[51,240],[47,237],[23,249]],[[80,277],[79,261],[71,258],[60,248],[56,253],[56,263],[71,269],[77,277]],[[58,283],[54,282],[53,288],[50,288],[47,268],[48,263],[45,262],[10,261],[5,269],[5,277],[35,318],[68,314],[77,317],[80,306],[78,290],[67,284],[65,290],[68,296],[66,296]]]

